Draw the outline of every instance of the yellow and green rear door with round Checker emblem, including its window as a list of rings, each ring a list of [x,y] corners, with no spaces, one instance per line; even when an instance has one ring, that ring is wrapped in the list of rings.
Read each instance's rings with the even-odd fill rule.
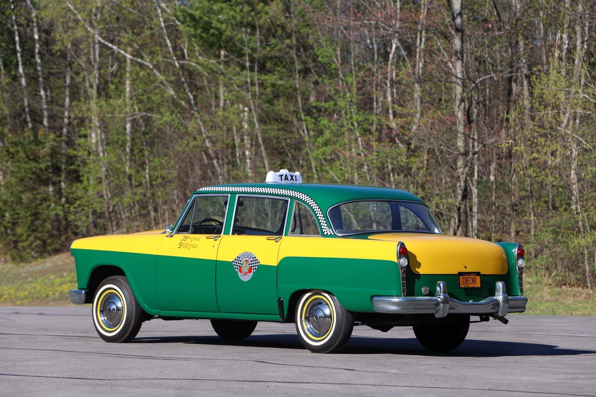
[[[224,236],[217,261],[219,311],[278,314],[277,255],[289,199],[238,195],[231,236]]]

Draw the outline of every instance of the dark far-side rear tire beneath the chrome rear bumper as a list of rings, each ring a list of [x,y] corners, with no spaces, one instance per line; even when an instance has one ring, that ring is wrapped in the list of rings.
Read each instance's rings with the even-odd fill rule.
[[[464,342],[470,328],[469,315],[457,315],[452,323],[414,326],[416,339],[431,352],[450,352]]]

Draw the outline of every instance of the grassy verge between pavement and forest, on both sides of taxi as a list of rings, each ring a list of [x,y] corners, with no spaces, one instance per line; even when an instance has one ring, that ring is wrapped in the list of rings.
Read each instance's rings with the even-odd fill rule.
[[[70,252],[30,263],[0,263],[0,306],[66,306],[76,288]],[[523,314],[596,315],[596,290],[551,285],[544,277],[524,275],[529,302]]]

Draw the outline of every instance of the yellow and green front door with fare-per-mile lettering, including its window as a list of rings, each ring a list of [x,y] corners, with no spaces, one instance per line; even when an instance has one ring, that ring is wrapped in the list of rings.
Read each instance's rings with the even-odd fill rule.
[[[217,312],[215,264],[229,195],[196,195],[157,250],[160,310]]]

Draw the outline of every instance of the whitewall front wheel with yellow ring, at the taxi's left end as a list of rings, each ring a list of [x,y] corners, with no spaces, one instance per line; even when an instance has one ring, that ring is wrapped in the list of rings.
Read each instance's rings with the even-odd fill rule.
[[[141,329],[143,310],[124,276],[105,279],[93,298],[93,324],[105,342],[130,342]]]

